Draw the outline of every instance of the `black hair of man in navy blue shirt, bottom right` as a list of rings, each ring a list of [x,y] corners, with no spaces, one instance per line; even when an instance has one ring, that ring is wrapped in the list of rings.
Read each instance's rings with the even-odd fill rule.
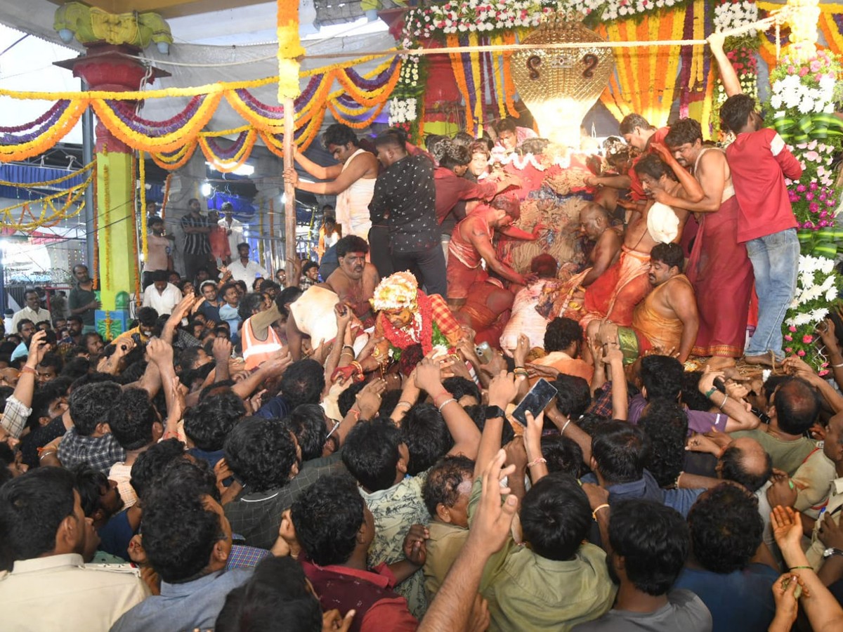
[[[764,532],[758,499],[731,483],[704,492],[688,512],[688,526],[696,561],[723,575],[749,565]]]

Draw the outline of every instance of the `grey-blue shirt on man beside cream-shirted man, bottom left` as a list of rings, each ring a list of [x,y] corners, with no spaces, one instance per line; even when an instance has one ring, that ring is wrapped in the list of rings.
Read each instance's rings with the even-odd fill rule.
[[[253,570],[217,570],[183,584],[162,581],[161,594],[147,597],[126,612],[111,626],[111,632],[213,629],[226,595],[248,581]]]

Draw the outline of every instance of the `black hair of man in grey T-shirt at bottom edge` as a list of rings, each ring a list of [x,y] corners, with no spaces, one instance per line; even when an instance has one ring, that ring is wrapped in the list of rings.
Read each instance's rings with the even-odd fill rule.
[[[612,551],[624,558],[626,577],[637,590],[666,594],[685,566],[688,525],[679,511],[655,501],[630,499],[612,504]]]

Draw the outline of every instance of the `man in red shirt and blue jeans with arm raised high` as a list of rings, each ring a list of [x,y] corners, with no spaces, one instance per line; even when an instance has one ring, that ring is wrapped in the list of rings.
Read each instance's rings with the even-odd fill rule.
[[[798,180],[802,165],[784,140],[755,111],[755,101],[741,93],[738,75],[723,52],[722,35],[709,37],[728,99],[720,115],[734,132],[726,148],[735,197],[740,205],[738,243],[745,243],[758,294],[758,326],[744,360],[771,365],[784,358],[781,324],[796,292],[799,265],[797,221],[787,197],[785,177]]]

